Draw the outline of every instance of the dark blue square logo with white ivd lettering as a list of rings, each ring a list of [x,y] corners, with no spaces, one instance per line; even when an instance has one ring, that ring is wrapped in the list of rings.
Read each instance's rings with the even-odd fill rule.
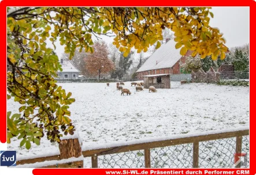
[[[16,166],[16,151],[0,151],[0,166]]]

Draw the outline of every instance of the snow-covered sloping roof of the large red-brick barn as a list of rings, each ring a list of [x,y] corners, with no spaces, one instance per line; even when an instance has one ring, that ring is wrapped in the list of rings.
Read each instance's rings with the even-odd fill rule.
[[[136,71],[136,73],[146,70],[162,69],[172,67],[180,58],[180,49],[175,48],[176,42],[172,39],[162,44],[149,59]]]

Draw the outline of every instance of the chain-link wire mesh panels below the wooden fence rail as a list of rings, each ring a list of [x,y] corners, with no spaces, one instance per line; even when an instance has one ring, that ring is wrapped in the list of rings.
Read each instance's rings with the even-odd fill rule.
[[[235,168],[236,138],[199,142],[199,168]],[[243,136],[242,153],[247,161],[242,168],[249,166],[249,136]],[[179,144],[150,149],[151,168],[192,168],[193,144]],[[144,168],[144,150],[101,155],[99,168]]]

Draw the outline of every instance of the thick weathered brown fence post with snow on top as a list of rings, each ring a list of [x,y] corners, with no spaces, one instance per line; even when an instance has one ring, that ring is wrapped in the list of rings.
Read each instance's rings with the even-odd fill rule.
[[[82,155],[79,139],[61,140],[59,144],[60,159],[68,159],[71,157],[80,157]],[[83,168],[83,161],[65,163],[66,168]]]

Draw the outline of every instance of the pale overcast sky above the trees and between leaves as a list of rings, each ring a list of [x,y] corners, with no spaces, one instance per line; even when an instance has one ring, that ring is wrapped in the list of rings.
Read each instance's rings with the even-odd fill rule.
[[[214,18],[210,26],[220,29],[227,40],[227,47],[235,47],[249,43],[249,7],[212,7]],[[107,43],[113,42],[113,37],[102,36]],[[49,45],[50,46],[50,45]],[[64,53],[64,46],[56,43],[58,57]]]

